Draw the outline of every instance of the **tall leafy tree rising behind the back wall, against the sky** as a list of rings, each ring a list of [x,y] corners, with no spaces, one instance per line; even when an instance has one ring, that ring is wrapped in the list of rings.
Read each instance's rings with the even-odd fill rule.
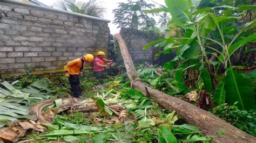
[[[118,8],[113,10],[113,23],[118,27],[132,28],[136,30],[152,30],[156,21],[145,13],[150,10],[154,4],[144,1],[129,1],[127,3],[119,3]]]

